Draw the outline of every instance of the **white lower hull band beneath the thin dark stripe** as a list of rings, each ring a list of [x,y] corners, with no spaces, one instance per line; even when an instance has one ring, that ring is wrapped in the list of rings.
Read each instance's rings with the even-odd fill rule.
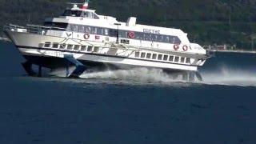
[[[120,69],[127,69],[129,67],[149,67],[149,68],[159,68],[159,69],[170,69],[170,70],[189,70],[196,71],[197,66],[185,66],[178,64],[170,64],[164,62],[150,62],[142,61],[131,58],[115,57],[113,55],[101,55],[101,54],[77,54],[76,52],[62,52],[57,50],[38,50],[36,48],[22,48],[19,47],[18,50],[26,56],[38,56],[38,57],[54,57],[63,58],[64,54],[72,54],[74,58],[78,61],[83,62],[100,62],[110,65],[117,66]],[[129,66],[129,67],[127,67]]]

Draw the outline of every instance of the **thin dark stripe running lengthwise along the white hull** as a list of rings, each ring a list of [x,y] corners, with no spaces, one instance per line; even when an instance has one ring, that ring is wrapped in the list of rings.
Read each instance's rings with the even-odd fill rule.
[[[106,54],[93,54],[93,53],[86,53],[86,52],[81,52],[81,51],[46,49],[46,48],[42,48],[42,47],[32,47],[32,46],[17,46],[17,47],[23,48],[23,49],[53,50],[53,51],[60,51],[60,52],[69,52],[69,53],[74,53],[74,54],[87,54],[87,55],[95,55],[95,56],[102,56],[102,57],[109,57],[109,58],[126,58],[126,59],[133,59],[133,60],[146,61],[146,62],[159,62],[159,61],[153,61],[153,60],[149,60],[149,59],[128,58],[128,57],[122,57],[122,56],[116,56],[116,55],[106,55]],[[196,66],[196,65],[186,65],[186,64],[174,63],[174,62],[159,62],[159,63],[168,63],[168,64],[174,64],[174,65],[180,65],[180,66]]]

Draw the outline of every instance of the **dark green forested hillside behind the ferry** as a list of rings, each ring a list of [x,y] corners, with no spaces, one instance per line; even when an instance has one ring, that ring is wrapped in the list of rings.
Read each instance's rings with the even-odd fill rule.
[[[1,0],[0,25],[40,24],[57,16],[68,0]],[[256,33],[255,0],[91,0],[98,14],[126,21],[135,16],[139,23],[181,28],[191,42],[230,44],[250,48]],[[255,40],[256,42],[256,40]]]

